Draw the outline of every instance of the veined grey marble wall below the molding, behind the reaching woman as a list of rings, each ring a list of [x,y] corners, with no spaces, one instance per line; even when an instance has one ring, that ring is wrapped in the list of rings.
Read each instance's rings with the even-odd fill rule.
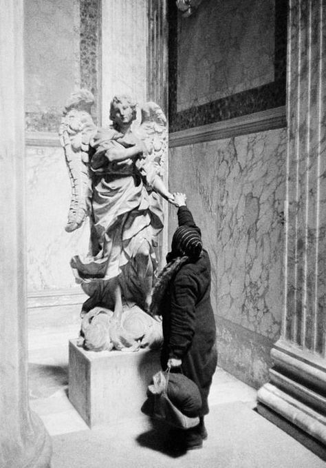
[[[169,187],[186,192],[212,263],[219,365],[259,387],[283,307],[285,129],[170,150]],[[169,231],[176,226],[169,212]]]

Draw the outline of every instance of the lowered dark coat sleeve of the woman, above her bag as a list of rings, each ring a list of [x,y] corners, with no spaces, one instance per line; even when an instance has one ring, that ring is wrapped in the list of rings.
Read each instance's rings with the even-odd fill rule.
[[[195,334],[197,282],[191,274],[177,275],[171,292],[169,358],[182,359]]]

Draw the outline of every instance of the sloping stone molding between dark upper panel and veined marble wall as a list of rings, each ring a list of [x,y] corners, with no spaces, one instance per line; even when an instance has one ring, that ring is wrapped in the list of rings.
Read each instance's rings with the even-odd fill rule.
[[[286,127],[285,106],[169,134],[169,147],[193,145]]]

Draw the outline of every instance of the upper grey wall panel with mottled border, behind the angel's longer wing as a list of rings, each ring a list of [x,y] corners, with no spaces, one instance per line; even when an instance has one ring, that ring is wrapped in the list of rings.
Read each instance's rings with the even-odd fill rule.
[[[28,132],[57,132],[67,97],[80,87],[94,94],[100,121],[101,2],[28,0],[24,17]]]

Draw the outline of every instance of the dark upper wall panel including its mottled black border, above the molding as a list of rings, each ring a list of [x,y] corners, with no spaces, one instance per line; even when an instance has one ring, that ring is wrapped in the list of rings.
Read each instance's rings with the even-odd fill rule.
[[[285,105],[287,0],[169,2],[171,132]]]

